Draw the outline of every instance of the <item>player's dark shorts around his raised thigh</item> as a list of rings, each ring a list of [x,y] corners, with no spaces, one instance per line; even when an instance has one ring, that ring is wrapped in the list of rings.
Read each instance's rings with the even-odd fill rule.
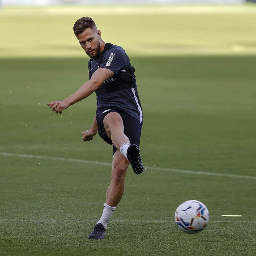
[[[106,108],[105,108],[106,109]],[[119,109],[119,108],[107,108],[110,109],[106,111],[105,109],[102,110],[104,113],[99,113],[96,116],[97,125],[98,125],[98,133],[100,137],[105,140],[108,144],[112,145],[112,140],[107,137],[105,127],[103,124],[104,117],[110,113],[110,112],[116,112],[120,114],[123,120],[123,128],[125,135],[129,138],[131,144],[136,144],[139,147],[140,144],[140,134],[141,134],[141,128],[142,124],[135,118],[127,114],[125,111]],[[106,111],[106,112],[105,112]],[[113,146],[113,155],[117,151],[117,149]]]

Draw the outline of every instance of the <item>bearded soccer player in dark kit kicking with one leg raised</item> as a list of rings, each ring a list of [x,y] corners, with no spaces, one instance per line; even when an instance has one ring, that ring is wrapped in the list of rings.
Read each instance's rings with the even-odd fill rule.
[[[83,17],[74,24],[74,33],[87,55],[89,80],[63,101],[47,105],[56,113],[83,100],[93,92],[97,96],[96,115],[91,129],[82,133],[84,142],[100,137],[113,144],[111,183],[106,193],[103,214],[88,238],[102,239],[117,204],[122,198],[128,165],[143,172],[139,143],[143,122],[136,86],[135,69],[122,47],[105,43],[95,22]]]

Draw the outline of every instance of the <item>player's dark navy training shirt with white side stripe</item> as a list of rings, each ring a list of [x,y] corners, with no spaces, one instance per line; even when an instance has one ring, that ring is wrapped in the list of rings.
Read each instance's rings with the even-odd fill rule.
[[[100,88],[108,88],[132,84],[133,88],[119,89],[117,91],[107,92],[97,95],[96,115],[108,110],[111,107],[120,108],[129,115],[136,118],[141,124],[143,122],[142,108],[140,105],[139,95],[136,87],[135,69],[125,50],[121,46],[111,45],[103,51],[103,56],[91,59],[89,62],[89,77],[99,68],[110,69],[114,75],[106,80]]]

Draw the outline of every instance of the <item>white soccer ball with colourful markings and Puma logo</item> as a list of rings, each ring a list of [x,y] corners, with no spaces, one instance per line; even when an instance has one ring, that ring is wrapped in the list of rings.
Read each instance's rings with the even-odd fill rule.
[[[195,234],[205,229],[209,222],[209,211],[200,201],[188,200],[178,206],[174,217],[179,229]]]

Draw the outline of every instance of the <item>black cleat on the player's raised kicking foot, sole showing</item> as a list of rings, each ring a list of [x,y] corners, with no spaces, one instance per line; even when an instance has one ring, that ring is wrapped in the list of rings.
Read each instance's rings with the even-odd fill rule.
[[[136,174],[144,172],[144,167],[140,157],[140,150],[136,144],[131,144],[127,149],[127,158]]]

